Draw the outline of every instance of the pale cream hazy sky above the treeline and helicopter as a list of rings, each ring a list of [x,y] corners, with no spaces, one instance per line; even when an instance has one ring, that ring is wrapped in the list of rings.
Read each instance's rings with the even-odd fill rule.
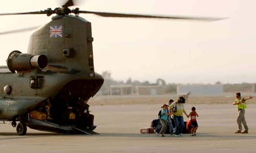
[[[81,0],[80,0],[81,1]],[[59,1],[1,2],[1,13],[55,8]],[[228,17],[217,22],[102,18],[92,22],[94,67],[115,80],[214,83],[256,82],[256,1],[246,0],[86,0],[80,10]],[[40,26],[46,15],[0,16],[1,31]],[[11,51],[27,52],[30,32],[0,35],[0,65]]]

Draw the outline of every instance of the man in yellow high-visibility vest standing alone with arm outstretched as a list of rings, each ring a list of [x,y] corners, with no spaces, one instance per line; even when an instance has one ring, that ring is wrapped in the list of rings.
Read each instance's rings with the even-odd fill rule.
[[[238,130],[235,133],[248,133],[248,126],[245,121],[245,109],[246,109],[246,100],[250,100],[251,96],[247,98],[242,98],[241,93],[236,93],[236,100],[233,102],[233,105],[237,105],[237,110],[238,110],[238,116],[237,116],[237,125],[238,125]],[[242,124],[243,127],[245,128],[245,131],[242,132]]]

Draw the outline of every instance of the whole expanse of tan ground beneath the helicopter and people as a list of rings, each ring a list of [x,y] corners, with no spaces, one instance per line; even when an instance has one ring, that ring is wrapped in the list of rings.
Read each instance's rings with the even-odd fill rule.
[[[141,127],[150,127],[151,120],[157,118],[166,98],[95,97],[89,104],[100,135],[60,135],[28,129],[27,135],[17,136],[11,125],[0,125],[0,152],[256,152],[256,105],[251,101],[246,109],[249,134],[234,134],[237,110],[228,104],[233,97],[224,97],[219,103],[185,104],[187,111],[196,106],[200,115],[197,137],[139,134]]]

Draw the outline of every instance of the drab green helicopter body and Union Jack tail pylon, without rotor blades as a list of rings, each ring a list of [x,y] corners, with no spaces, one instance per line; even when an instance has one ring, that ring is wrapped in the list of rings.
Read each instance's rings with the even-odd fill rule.
[[[94,72],[92,42],[91,24],[79,16],[53,16],[35,30],[27,54],[10,53],[7,67],[0,68],[0,120],[20,121],[51,100],[53,119],[59,122],[69,105],[94,96],[104,79]],[[33,66],[40,55],[47,57],[43,69]]]

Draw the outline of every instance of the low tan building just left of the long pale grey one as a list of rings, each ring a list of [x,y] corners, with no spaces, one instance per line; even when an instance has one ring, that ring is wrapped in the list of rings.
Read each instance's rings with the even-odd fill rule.
[[[161,86],[136,86],[135,89],[138,95],[163,94],[163,88]]]

